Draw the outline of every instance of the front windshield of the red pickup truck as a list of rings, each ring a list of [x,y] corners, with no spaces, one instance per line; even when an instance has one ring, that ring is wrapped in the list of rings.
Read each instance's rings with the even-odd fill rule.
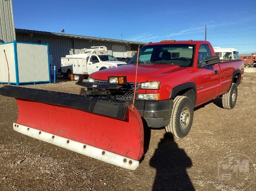
[[[195,45],[188,44],[162,44],[145,45],[139,52],[138,63],[174,64],[184,67],[193,66]],[[129,64],[137,62],[137,53]]]

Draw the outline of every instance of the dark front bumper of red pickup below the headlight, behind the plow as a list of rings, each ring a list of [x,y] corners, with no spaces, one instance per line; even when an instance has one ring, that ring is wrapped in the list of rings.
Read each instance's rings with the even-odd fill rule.
[[[165,127],[170,123],[173,100],[135,100],[135,108],[148,127]]]

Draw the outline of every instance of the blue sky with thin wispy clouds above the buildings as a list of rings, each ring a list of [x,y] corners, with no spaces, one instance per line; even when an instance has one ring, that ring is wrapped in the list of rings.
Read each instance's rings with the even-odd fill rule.
[[[207,40],[256,52],[255,0],[13,0],[15,28],[138,42]]]

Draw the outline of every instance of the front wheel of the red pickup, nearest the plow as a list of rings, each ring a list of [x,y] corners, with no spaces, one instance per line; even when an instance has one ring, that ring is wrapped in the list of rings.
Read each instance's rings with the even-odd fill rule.
[[[171,120],[165,127],[167,134],[176,138],[183,138],[191,129],[194,117],[194,105],[186,96],[176,96],[172,110]]]

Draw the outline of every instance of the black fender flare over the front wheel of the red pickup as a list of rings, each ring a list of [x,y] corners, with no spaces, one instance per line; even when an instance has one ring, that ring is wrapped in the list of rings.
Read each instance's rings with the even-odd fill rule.
[[[196,102],[196,85],[194,82],[182,83],[175,86],[171,90],[170,99],[174,99],[176,96],[187,96],[195,106]]]

